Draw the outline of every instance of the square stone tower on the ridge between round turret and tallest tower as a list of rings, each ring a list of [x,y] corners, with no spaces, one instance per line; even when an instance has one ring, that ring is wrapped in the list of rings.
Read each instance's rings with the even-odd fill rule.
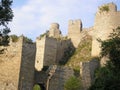
[[[70,20],[68,25],[68,37],[71,38],[73,45],[78,46],[80,42],[80,32],[82,31],[81,20]]]

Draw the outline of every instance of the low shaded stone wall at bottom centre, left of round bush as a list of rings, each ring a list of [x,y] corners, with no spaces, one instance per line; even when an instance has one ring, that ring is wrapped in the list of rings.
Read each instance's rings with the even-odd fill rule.
[[[74,75],[73,69],[69,67],[57,66],[53,76],[49,81],[48,90],[64,90],[64,84]]]

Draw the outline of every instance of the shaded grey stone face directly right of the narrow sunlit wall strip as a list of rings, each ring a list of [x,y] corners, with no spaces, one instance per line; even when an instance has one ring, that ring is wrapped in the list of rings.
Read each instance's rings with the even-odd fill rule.
[[[57,39],[52,37],[46,37],[44,51],[44,66],[56,64],[56,55]]]

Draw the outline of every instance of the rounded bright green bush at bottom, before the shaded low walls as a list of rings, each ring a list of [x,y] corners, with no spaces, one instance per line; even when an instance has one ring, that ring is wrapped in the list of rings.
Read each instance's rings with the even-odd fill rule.
[[[64,90],[80,90],[80,88],[81,82],[76,77],[70,77],[64,85]]]

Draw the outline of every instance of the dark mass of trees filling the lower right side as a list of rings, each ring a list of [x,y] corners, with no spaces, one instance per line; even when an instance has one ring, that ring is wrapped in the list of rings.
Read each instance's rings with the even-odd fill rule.
[[[101,44],[101,57],[108,57],[109,61],[96,71],[90,90],[120,90],[120,27]]]

